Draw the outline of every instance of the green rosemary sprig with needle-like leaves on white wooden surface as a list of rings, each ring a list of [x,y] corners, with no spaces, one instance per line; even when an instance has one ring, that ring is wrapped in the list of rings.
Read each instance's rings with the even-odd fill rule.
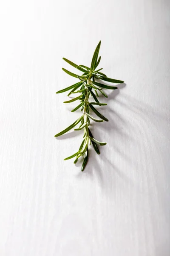
[[[57,93],[64,93],[64,92],[70,90],[70,92],[68,93],[68,96],[70,96],[71,94],[74,94],[74,93],[79,93],[79,96],[77,96],[71,100],[65,101],[64,103],[71,103],[74,101],[79,101],[78,106],[76,108],[74,108],[71,112],[77,111],[79,108],[81,108],[81,111],[83,112],[82,115],[73,124],[68,126],[68,128],[66,128],[65,130],[56,134],[55,137],[65,134],[66,132],[70,131],[72,128],[74,128],[78,124],[79,124],[79,127],[75,128],[74,129],[75,131],[84,129],[83,141],[79,147],[79,150],[75,154],[64,159],[64,160],[68,160],[73,157],[76,157],[74,160],[74,163],[77,163],[79,157],[84,156],[84,160],[82,163],[82,171],[85,169],[86,163],[88,161],[88,145],[91,144],[94,147],[94,150],[96,151],[97,154],[100,154],[98,145],[106,145],[106,143],[96,140],[93,137],[93,135],[89,129],[90,119],[95,122],[103,122],[103,121],[108,122],[108,119],[105,116],[103,116],[101,113],[99,113],[99,111],[94,107],[94,105],[99,105],[99,106],[107,105],[105,103],[99,102],[99,100],[97,98],[97,97],[99,97],[98,92],[107,98],[108,96],[104,93],[103,88],[111,89],[111,90],[115,90],[118,88],[115,86],[103,84],[103,83],[101,83],[100,80],[108,81],[111,83],[123,83],[124,82],[121,80],[108,78],[104,73],[100,72],[102,70],[102,68],[96,70],[96,68],[98,67],[100,60],[101,60],[101,56],[99,56],[99,58],[98,58],[100,44],[101,44],[101,41],[99,41],[99,44],[97,45],[97,47],[94,51],[94,55],[93,55],[93,58],[91,61],[91,67],[87,67],[84,65],[77,65],[77,64],[73,63],[72,61],[69,61],[68,59],[63,58],[63,60],[68,62],[68,64],[75,67],[77,70],[82,71],[83,74],[82,74],[82,76],[79,76],[74,73],[71,73],[70,71],[66,70],[65,68],[62,68],[62,70],[64,70],[65,73],[67,73],[68,75],[79,79],[79,82],[76,84],[73,84],[65,89],[57,91]],[[97,81],[96,81],[96,79],[97,79]],[[94,102],[89,102],[90,96],[94,99]],[[100,119],[97,119],[96,117],[92,116],[90,114],[90,110],[93,111]]]

